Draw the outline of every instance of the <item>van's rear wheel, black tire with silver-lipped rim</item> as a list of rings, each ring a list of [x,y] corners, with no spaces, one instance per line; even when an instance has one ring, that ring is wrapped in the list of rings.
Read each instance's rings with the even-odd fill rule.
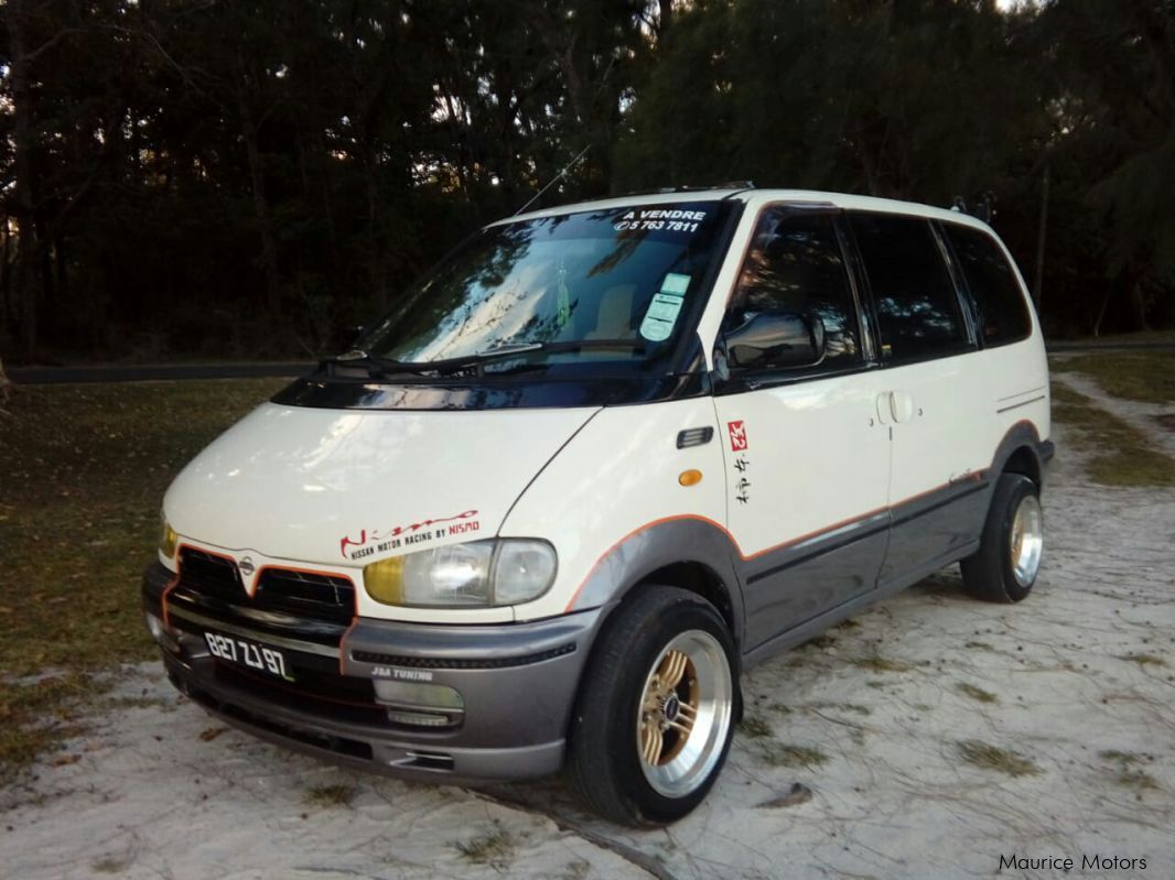
[[[964,587],[987,602],[1020,602],[1036,583],[1043,544],[1036,483],[1022,474],[1000,474],[979,550],[959,563]]]

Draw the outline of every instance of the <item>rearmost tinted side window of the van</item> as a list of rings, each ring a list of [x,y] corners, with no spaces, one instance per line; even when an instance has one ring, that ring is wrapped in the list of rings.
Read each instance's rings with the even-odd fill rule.
[[[1032,333],[1032,319],[1016,273],[1003,251],[989,235],[978,229],[944,223],[942,231],[975,300],[983,344],[1005,345],[1027,339]]]

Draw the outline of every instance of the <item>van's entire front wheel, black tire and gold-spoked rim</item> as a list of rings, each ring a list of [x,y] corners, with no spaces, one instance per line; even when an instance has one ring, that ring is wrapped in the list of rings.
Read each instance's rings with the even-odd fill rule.
[[[738,655],[718,611],[686,590],[650,587],[613,614],[571,720],[568,774],[605,818],[666,825],[726,760]]]

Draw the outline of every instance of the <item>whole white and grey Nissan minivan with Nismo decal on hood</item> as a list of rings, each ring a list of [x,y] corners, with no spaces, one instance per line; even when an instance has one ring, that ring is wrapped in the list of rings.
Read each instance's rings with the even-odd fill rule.
[[[260,737],[417,780],[565,769],[670,823],[741,669],[954,562],[1029,593],[1048,436],[1040,325],[976,219],[756,189],[536,211],[183,469],[147,624]]]

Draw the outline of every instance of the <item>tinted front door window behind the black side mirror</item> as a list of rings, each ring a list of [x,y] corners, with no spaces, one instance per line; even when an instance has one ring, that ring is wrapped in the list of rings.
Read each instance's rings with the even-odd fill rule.
[[[861,359],[860,329],[848,272],[830,215],[766,211],[754,231],[724,329],[761,312],[791,312],[824,324],[824,365]]]

